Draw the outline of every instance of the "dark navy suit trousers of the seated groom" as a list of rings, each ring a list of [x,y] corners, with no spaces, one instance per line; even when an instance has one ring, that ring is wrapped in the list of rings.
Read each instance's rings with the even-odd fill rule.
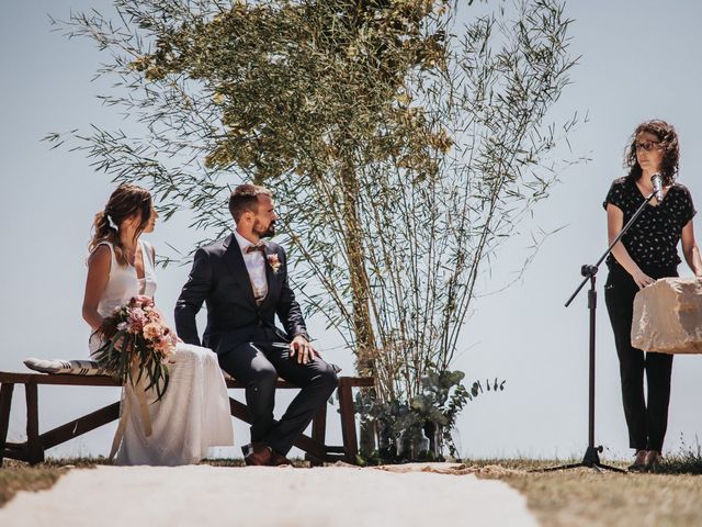
[[[218,358],[224,371],[246,384],[251,442],[262,442],[286,455],[317,410],[331,396],[339,380],[320,358],[301,365],[297,356],[290,357],[287,347],[283,346],[270,341],[245,343]],[[273,406],[279,377],[302,390],[276,422]]]

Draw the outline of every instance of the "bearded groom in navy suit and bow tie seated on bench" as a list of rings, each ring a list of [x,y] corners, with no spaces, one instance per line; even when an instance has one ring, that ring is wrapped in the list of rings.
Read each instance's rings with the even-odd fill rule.
[[[186,344],[200,345],[195,315],[207,304],[202,346],[219,366],[246,383],[251,442],[247,464],[288,464],[293,442],[337,388],[333,369],[309,344],[299,305],[287,283],[285,251],[273,242],[271,192],[237,187],[229,198],[236,229],[195,253],[193,268],[176,304],[176,327]],[[275,326],[278,315],[284,330]],[[273,418],[275,382],[281,377],[302,388],[285,415]]]

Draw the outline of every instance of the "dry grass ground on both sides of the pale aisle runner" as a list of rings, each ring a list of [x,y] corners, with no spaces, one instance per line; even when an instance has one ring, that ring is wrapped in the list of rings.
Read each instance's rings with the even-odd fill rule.
[[[296,467],[308,466],[294,460]],[[18,491],[49,489],[70,468],[104,464],[104,458],[50,460],[30,467],[5,460],[0,468],[0,507]],[[579,468],[558,472],[534,470],[568,461],[531,459],[469,460],[463,463],[412,463],[359,470],[475,474],[497,479],[521,492],[544,527],[687,527],[702,525],[702,467],[699,451],[668,456],[661,471],[668,473],[597,472]],[[215,467],[240,467],[241,460],[208,460]],[[625,462],[609,462],[623,468]],[[344,463],[338,463],[344,464]],[[352,467],[352,466],[349,466]]]

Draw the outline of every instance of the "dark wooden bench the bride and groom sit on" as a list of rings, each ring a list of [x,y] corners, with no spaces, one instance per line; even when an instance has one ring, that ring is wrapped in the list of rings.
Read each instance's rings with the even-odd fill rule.
[[[244,383],[228,379],[227,388],[244,389]],[[26,441],[9,442],[8,428],[10,426],[10,410],[12,407],[12,392],[15,384],[24,385],[26,397]],[[121,384],[106,375],[48,375],[44,373],[10,373],[0,371],[0,467],[3,458],[18,459],[35,464],[44,461],[44,452],[57,445],[116,421],[120,417],[120,402],[110,404],[77,419],[70,421],[52,430],[39,434],[38,418],[38,385],[68,386],[120,386]],[[341,377],[339,378],[339,407],[341,414],[341,435],[343,446],[326,445],[327,405],[325,404],[312,424],[312,436],[302,434],[295,446],[306,452],[306,459],[318,464],[325,461],[344,460],[355,463],[358,441],[353,410],[352,388],[372,386],[372,378]],[[288,382],[279,380],[278,388],[297,388]],[[229,397],[231,415],[249,423],[247,406]]]

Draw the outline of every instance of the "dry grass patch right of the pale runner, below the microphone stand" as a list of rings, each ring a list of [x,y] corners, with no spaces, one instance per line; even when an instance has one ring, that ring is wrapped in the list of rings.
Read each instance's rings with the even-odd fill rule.
[[[544,527],[688,527],[702,525],[702,478],[699,456],[667,456],[657,473],[598,472],[578,468],[557,472],[533,470],[570,461],[479,460],[478,478],[499,479],[526,497]],[[625,468],[626,462],[608,460]],[[668,473],[664,473],[668,472]]]

